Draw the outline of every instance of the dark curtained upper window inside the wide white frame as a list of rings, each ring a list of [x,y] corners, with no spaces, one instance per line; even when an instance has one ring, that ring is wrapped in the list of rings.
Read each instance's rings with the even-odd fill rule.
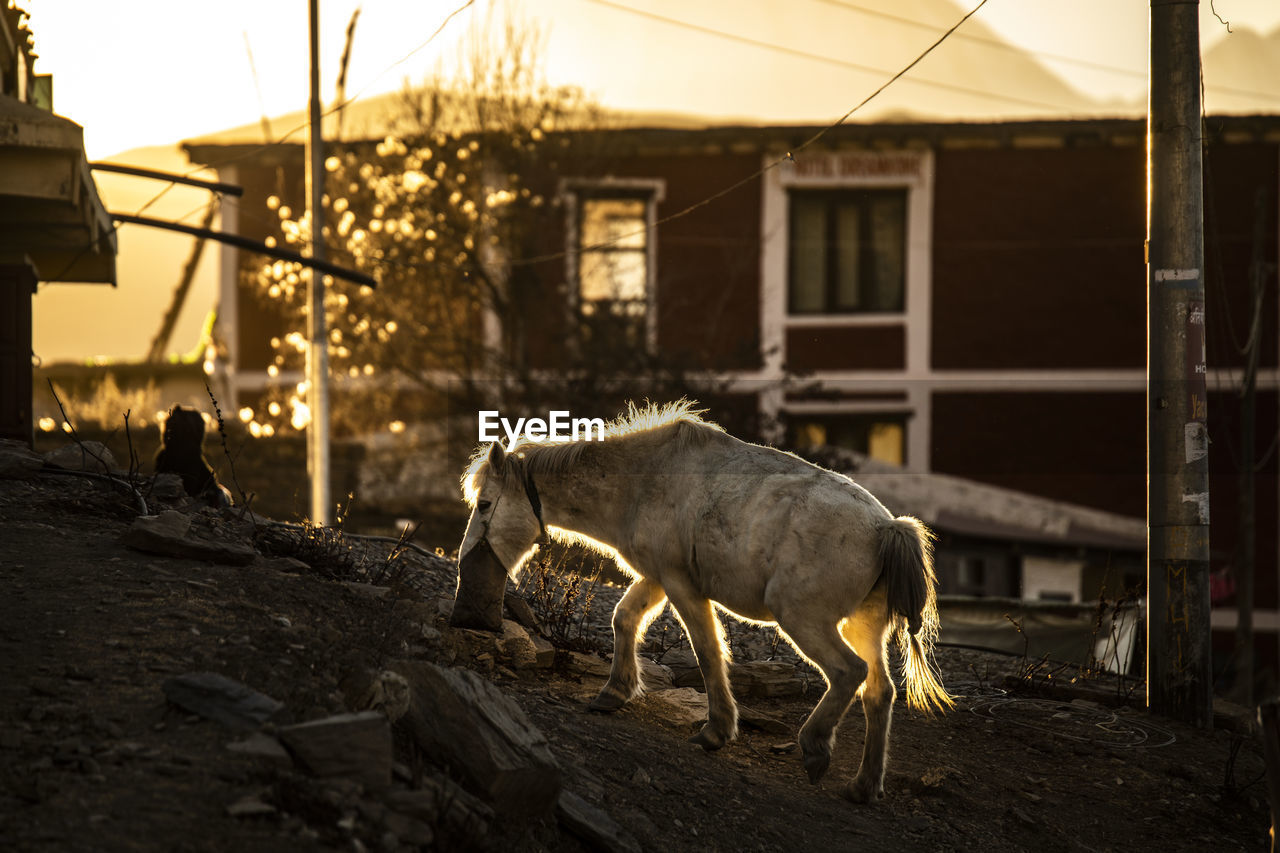
[[[906,190],[792,190],[791,314],[904,309]]]

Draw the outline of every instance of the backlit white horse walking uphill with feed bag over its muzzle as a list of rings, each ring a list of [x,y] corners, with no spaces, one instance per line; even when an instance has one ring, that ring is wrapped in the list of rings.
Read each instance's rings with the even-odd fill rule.
[[[631,407],[603,441],[481,447],[462,479],[472,514],[452,624],[499,629],[507,569],[515,575],[548,533],[585,542],[635,578],[613,611],[613,665],[591,710],[616,711],[643,690],[636,643],[669,601],[707,685],[709,719],[691,740],[718,749],[737,734],[737,706],[716,607],[774,622],[827,680],[800,729],[810,781],[827,771],[836,726],[860,694],[867,738],[845,795],[883,797],[891,637],[909,704],[951,706],[928,662],[931,534],[847,476],[739,441],[698,414],[687,401]]]

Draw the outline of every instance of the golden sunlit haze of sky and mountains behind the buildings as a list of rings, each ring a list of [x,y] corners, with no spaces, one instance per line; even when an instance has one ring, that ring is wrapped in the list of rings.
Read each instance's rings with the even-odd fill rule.
[[[540,29],[549,82],[577,86],[605,108],[826,124],[882,86],[974,3],[321,0],[323,96],[326,102],[335,97],[357,8],[346,87],[357,100],[422,82],[433,72],[452,73],[467,33],[509,14]],[[19,5],[31,14],[36,70],[54,79],[54,110],[84,127],[91,160],[184,172],[189,164],[178,142],[230,128],[248,128],[243,140],[260,141],[264,115],[306,109],[303,0]],[[1230,20],[1231,35],[1213,9]],[[854,120],[1139,117],[1147,17],[1147,4],[1137,0],[988,0]],[[1210,110],[1280,110],[1274,42],[1263,41],[1277,27],[1275,0],[1201,4],[1204,54],[1222,45],[1230,54],[1216,65],[1206,63]],[[136,211],[159,188],[105,173],[96,179],[109,210]],[[148,214],[196,224],[206,204],[202,191],[174,188]],[[138,225],[122,227],[119,238],[120,287],[41,287],[35,318],[41,360],[136,359],[146,351],[150,332],[134,327],[159,325],[192,238]],[[173,338],[177,352],[196,345],[214,305],[215,257],[206,252],[200,265]],[[129,319],[102,323],[104,316]]]

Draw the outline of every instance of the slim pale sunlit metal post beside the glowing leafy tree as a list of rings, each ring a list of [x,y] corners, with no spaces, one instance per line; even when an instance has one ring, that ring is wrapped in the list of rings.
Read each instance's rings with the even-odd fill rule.
[[[307,131],[307,211],[311,219],[311,256],[324,260],[324,132],[320,126],[320,13],[319,0],[308,0],[311,42],[311,99]],[[329,332],[324,315],[324,274],[311,270],[307,311],[307,476],[311,479],[311,521],[333,524],[329,496]]]

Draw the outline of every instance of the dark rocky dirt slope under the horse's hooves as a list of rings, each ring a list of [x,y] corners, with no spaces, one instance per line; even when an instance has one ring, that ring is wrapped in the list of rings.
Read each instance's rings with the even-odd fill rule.
[[[166,703],[166,679],[223,674],[283,702],[284,724],[344,711],[353,671],[448,647],[397,617],[396,594],[296,564],[128,548],[136,515],[100,484],[0,480],[0,849],[590,849],[554,817],[486,834],[412,825],[357,784],[229,751],[242,735]],[[452,584],[424,570],[417,593],[397,594]],[[594,602],[586,639],[611,596]],[[1107,707],[1106,690],[1074,703],[1029,684],[1010,692],[1019,661],[942,649],[940,663],[960,707],[938,720],[897,710],[888,797],[870,807],[838,795],[860,754],[856,707],[827,780],[810,786],[788,742],[815,697],[753,699],[791,731],[746,727],[707,754],[655,697],[598,716],[585,711],[591,675],[488,676],[545,733],[566,788],[646,850],[1263,849],[1252,740]],[[402,733],[397,761],[397,789],[431,765]],[[237,803],[261,813],[233,816]]]

